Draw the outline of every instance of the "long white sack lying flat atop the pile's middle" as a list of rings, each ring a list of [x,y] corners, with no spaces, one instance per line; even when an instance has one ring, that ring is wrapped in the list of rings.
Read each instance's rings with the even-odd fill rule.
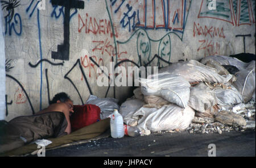
[[[187,79],[188,82],[210,82],[210,83],[226,83],[232,75],[219,75],[217,70],[209,66],[205,66],[196,60],[185,62],[177,62],[158,70],[159,73],[168,72],[177,74]]]

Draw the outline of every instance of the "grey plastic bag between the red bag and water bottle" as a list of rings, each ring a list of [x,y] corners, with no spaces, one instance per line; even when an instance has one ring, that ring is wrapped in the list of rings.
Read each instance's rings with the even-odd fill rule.
[[[114,109],[119,110],[118,99],[114,98],[98,98],[97,96],[90,95],[86,104],[95,104],[101,109],[101,120],[106,119],[111,115]]]

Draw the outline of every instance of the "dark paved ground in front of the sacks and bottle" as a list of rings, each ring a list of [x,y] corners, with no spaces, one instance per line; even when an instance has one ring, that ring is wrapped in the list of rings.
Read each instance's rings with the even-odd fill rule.
[[[255,157],[255,131],[196,134],[188,132],[152,133],[149,136],[112,137],[90,141],[85,144],[47,150],[46,156],[71,157],[168,157],[208,156],[216,146],[216,156]]]

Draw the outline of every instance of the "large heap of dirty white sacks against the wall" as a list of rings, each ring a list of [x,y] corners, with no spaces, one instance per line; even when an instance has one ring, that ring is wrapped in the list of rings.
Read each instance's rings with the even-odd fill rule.
[[[233,107],[255,100],[255,61],[209,56],[200,62],[176,62],[139,82],[141,87],[119,112],[127,125],[137,126],[143,135],[183,131],[195,117],[245,127],[248,120]],[[255,125],[255,110],[251,117]]]

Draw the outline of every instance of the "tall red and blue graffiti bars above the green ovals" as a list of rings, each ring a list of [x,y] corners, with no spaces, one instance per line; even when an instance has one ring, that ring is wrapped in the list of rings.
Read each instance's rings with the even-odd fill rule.
[[[144,0],[128,2],[109,0],[114,14],[119,15],[119,23],[129,31],[135,28],[149,30],[163,29],[166,31],[184,32],[191,1]],[[123,12],[125,11],[125,12]],[[119,14],[121,13],[121,14]]]

